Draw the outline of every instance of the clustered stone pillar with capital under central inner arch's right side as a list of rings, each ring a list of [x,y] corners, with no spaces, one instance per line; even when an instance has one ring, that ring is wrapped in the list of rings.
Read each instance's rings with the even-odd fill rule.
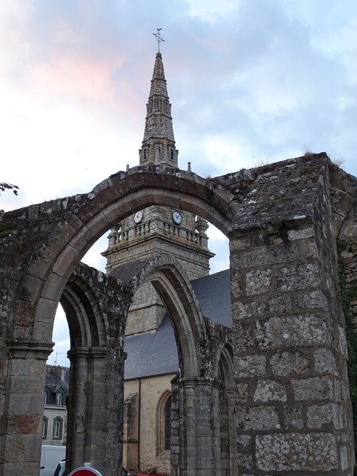
[[[180,476],[221,476],[219,383],[183,378],[180,388]]]

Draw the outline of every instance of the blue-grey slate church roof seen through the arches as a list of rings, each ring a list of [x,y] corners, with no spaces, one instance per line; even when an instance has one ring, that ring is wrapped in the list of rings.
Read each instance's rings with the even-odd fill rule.
[[[191,281],[203,315],[226,326],[231,326],[230,279],[230,270],[224,270]],[[124,350],[128,354],[126,380],[178,371],[176,340],[168,314],[156,332],[128,335]]]

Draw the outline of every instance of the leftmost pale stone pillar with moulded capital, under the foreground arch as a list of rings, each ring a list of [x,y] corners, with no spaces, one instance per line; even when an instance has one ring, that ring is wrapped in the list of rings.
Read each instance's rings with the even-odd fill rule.
[[[8,345],[1,476],[39,476],[46,360],[52,345],[31,341]]]

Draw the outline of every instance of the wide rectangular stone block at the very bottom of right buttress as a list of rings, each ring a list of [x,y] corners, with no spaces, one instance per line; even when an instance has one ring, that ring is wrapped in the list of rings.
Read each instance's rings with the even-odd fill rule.
[[[258,435],[256,458],[261,471],[337,470],[336,438],[330,433]]]

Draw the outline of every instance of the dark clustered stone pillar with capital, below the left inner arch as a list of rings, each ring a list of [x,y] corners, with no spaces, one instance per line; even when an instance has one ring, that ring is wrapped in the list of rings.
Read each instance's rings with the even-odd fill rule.
[[[106,476],[119,474],[124,412],[121,354],[106,348],[76,348],[69,352],[66,473],[91,462]]]

